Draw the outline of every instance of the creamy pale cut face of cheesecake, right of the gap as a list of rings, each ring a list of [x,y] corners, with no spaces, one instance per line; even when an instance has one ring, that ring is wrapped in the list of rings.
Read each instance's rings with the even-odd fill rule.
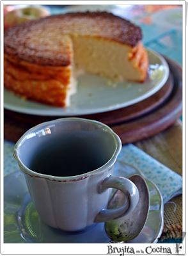
[[[133,48],[91,36],[72,36],[72,42],[75,69],[98,74],[113,81],[145,79],[140,70],[143,65],[141,43]]]

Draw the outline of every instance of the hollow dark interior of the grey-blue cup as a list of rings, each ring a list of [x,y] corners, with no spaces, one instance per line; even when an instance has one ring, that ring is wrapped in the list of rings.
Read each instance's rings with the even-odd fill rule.
[[[35,136],[27,135],[20,150],[20,161],[36,173],[68,177],[104,166],[117,148],[117,142],[104,127],[56,124]],[[84,129],[85,130],[84,130]]]

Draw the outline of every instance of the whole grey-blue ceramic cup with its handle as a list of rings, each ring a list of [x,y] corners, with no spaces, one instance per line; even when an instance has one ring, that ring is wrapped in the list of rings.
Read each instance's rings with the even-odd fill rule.
[[[36,125],[17,141],[13,155],[24,172],[36,211],[49,226],[76,232],[129,214],[139,192],[129,179],[113,176],[120,138],[100,122],[61,118]],[[127,204],[106,209],[108,188]]]

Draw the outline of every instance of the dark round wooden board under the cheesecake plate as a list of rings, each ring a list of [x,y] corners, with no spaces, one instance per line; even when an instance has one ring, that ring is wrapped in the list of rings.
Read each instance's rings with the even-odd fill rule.
[[[166,61],[170,70],[168,81],[148,99],[126,108],[80,117],[109,125],[123,144],[163,131],[182,115],[182,68],[168,58]],[[62,117],[26,115],[4,109],[4,139],[16,142],[34,125]]]

